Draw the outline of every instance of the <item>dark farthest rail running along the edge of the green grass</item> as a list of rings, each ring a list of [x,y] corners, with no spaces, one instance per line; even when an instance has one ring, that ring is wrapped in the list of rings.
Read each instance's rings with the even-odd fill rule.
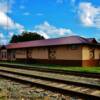
[[[59,69],[50,69],[44,67],[35,67],[35,66],[28,66],[28,65],[20,65],[20,64],[6,64],[0,63],[0,66],[4,67],[13,67],[13,68],[20,68],[20,69],[27,69],[27,70],[36,70],[42,72],[50,72],[50,73],[59,73],[59,74],[67,74],[67,75],[75,75],[75,76],[83,76],[83,77],[91,77],[91,78],[100,78],[100,73],[90,73],[90,72],[79,72],[79,71],[65,71]]]

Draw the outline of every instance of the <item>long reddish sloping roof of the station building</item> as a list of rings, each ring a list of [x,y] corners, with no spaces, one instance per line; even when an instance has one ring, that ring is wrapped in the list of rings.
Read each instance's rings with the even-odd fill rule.
[[[83,38],[79,36],[68,36],[68,37],[56,38],[56,39],[11,43],[8,44],[6,47],[7,49],[17,49],[17,48],[28,48],[28,47],[67,45],[67,44],[87,44],[87,43],[92,43],[92,41],[88,40],[87,38]]]

